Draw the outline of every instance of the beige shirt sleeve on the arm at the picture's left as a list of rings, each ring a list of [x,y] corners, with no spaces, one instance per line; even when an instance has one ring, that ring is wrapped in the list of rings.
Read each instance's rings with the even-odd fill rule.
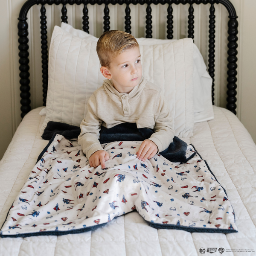
[[[82,146],[83,152],[87,159],[98,151],[104,150],[99,143],[99,131],[102,120],[97,116],[97,104],[95,96],[90,96],[87,102],[87,114],[81,122],[81,133],[78,137],[78,143]]]

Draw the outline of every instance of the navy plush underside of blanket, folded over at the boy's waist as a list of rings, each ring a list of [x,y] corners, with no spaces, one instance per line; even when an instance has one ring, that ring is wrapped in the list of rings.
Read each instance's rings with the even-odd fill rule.
[[[81,130],[78,126],[68,125],[61,122],[49,121],[44,130],[42,138],[50,140],[52,136],[60,134],[68,140],[77,139]],[[122,123],[112,128],[101,127],[99,142],[101,144],[110,143],[113,141],[143,141],[154,133],[153,130],[148,128],[137,128],[136,123]],[[187,144],[180,140],[178,137],[173,138],[173,142],[164,151],[160,152],[163,157],[171,162],[186,163],[189,159],[186,158]]]

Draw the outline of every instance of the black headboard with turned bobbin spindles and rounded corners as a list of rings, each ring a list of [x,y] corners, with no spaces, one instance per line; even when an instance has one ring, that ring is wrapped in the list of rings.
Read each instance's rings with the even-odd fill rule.
[[[228,21],[228,64],[227,64],[227,109],[236,114],[236,75],[237,75],[237,34],[238,34],[238,21],[236,16],[236,10],[230,0],[27,0],[26,3],[22,6],[19,15],[18,23],[18,35],[19,35],[19,63],[20,63],[20,103],[21,103],[21,117],[26,115],[31,110],[30,107],[30,87],[29,87],[29,46],[28,46],[28,23],[27,13],[29,9],[34,6],[41,4],[41,49],[42,49],[42,77],[43,77],[43,101],[44,106],[46,105],[47,97],[47,84],[48,84],[48,47],[47,47],[47,20],[46,20],[46,9],[45,5],[49,4],[62,4],[61,9],[61,21],[67,23],[67,8],[66,5],[70,4],[83,4],[83,30],[89,33],[89,16],[87,5],[91,4],[105,4],[104,9],[104,32],[110,29],[110,16],[108,4],[126,4],[125,8],[125,32],[131,33],[131,10],[130,4],[147,4],[146,8],[146,25],[145,32],[146,38],[152,38],[152,16],[151,16],[151,4],[169,4],[167,9],[167,38],[173,38],[173,15],[172,15],[172,4],[189,4],[189,16],[188,16],[188,37],[194,38],[194,8],[193,4],[211,4],[210,6],[210,15],[209,15],[209,64],[208,72],[212,77],[212,104],[214,105],[214,67],[215,67],[215,8],[214,4],[222,4],[226,7],[229,13]]]

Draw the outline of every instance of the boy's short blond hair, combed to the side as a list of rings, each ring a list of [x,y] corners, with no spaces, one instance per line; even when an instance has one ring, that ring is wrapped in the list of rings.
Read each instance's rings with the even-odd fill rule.
[[[110,68],[113,58],[134,47],[139,47],[139,44],[131,34],[120,30],[110,30],[101,35],[96,51],[100,64],[103,67]]]

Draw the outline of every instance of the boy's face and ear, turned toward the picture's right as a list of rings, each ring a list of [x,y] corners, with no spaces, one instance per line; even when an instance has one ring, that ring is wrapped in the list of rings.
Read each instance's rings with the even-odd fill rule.
[[[112,79],[113,86],[119,93],[129,93],[142,76],[140,48],[134,47],[120,53],[111,61],[110,68],[101,67],[103,76]]]

